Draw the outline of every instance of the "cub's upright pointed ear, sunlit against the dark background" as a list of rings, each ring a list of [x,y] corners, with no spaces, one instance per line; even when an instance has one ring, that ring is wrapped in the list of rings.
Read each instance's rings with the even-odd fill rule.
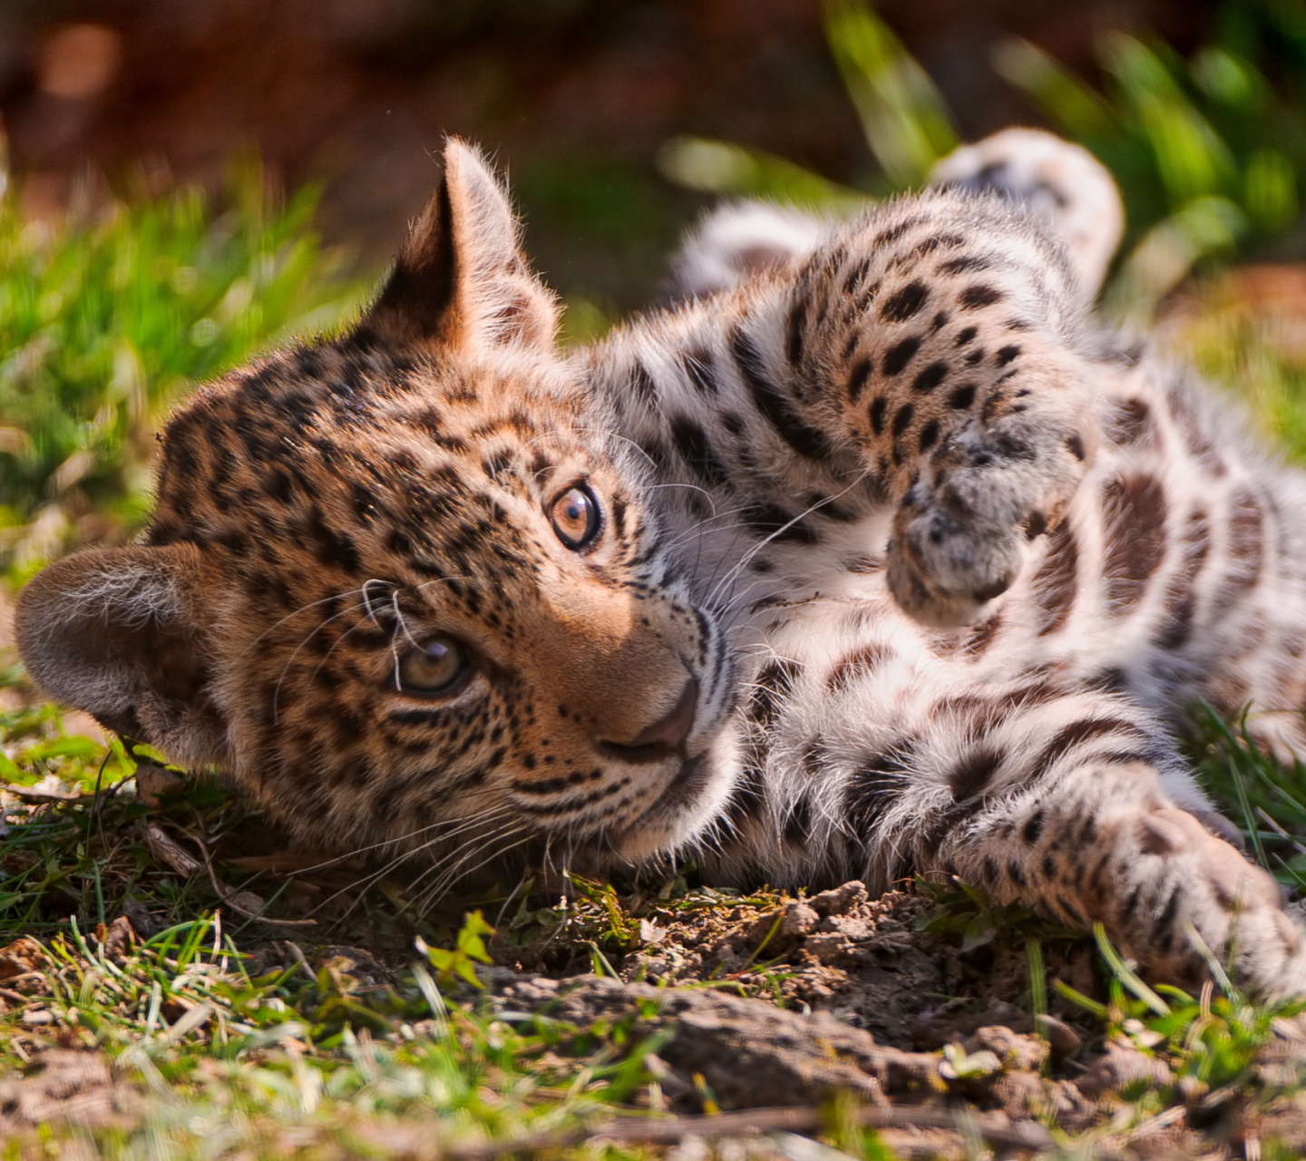
[[[503,187],[479,150],[451,137],[444,180],[362,328],[468,353],[551,347],[558,307],[526,268],[517,234]]]

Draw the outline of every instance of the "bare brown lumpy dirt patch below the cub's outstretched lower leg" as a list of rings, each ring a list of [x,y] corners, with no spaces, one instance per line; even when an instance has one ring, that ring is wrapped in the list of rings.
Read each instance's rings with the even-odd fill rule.
[[[999,1152],[1050,1147],[1042,1128],[1049,1121],[1072,1135],[1098,1131],[1104,1156],[1241,1156],[1249,1134],[1268,1132],[1290,1149],[1306,1148],[1299,1101],[1250,1117],[1237,1102],[1203,1106],[1205,1093],[1194,1093],[1191,1107],[1177,1096],[1153,1123],[1119,1131],[1127,1113],[1121,1090],[1165,1088],[1173,1083],[1168,1067],[1104,1040],[1100,1025],[1055,995],[1036,1028],[1023,940],[999,935],[963,952],[955,935],[921,930],[934,910],[910,892],[870,899],[858,882],[778,912],[722,904],[673,914],[653,906],[641,921],[644,946],[618,966],[620,982],[532,978],[525,973],[547,968],[547,955],[535,964],[518,956],[512,966],[522,974],[495,977],[496,1002],[552,1002],[560,1017],[584,1020],[660,995],[657,985],[722,985],[661,994],[669,998],[660,1019],[678,1029],[661,1053],[669,1068],[662,1087],[688,1107],[699,1098],[692,1077],[700,1074],[722,1107],[819,1101],[833,1088],[900,1111],[965,1101],[985,1131],[1028,1132],[1024,1144],[990,1137]],[[1049,979],[1101,995],[1091,944],[1053,940],[1043,951]],[[751,998],[731,995],[730,983]],[[940,1049],[948,1049],[943,1058]],[[1264,1067],[1302,1050],[1284,1040]],[[956,1128],[936,1122],[889,1124],[882,1136],[904,1157],[965,1151]]]

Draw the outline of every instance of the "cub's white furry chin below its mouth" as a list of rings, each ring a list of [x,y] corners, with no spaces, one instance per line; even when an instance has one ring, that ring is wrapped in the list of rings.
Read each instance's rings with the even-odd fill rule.
[[[739,771],[739,744],[724,730],[684,761],[640,818],[611,836],[610,849],[631,865],[675,855],[704,838],[724,818]]]

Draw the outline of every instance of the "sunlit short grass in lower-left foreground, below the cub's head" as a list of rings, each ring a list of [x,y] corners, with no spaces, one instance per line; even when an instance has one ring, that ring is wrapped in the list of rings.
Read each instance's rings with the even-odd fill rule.
[[[80,1139],[78,1156],[374,1156],[379,1136],[404,1156],[475,1147],[629,1102],[658,1047],[632,1036],[639,1013],[579,1026],[447,1004],[418,966],[385,985],[338,957],[260,972],[209,915],[125,957],[76,923],[47,947],[29,1047],[37,1012],[61,1045],[99,1049],[144,1081],[133,1127],[51,1128]],[[8,1036],[21,1026],[0,1015],[5,1071],[26,1067]],[[31,1140],[13,1156],[46,1154]]]

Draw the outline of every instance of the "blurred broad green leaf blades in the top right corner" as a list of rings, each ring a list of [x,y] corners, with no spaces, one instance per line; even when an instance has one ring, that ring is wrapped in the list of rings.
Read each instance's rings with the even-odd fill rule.
[[[1151,306],[1209,257],[1264,249],[1299,219],[1306,52],[1297,4],[1226,4],[1190,57],[1121,33],[1093,91],[1042,50],[1010,40],[998,71],[1115,175],[1130,234],[1115,300]]]

